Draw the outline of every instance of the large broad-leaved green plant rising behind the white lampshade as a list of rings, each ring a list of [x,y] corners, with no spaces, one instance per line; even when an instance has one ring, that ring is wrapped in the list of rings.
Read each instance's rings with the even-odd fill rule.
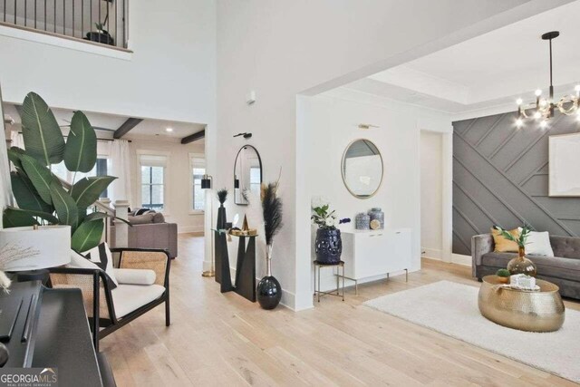
[[[18,208],[5,208],[3,226],[68,225],[74,250],[98,246],[107,214],[88,213],[88,209],[116,178],[97,176],[67,184],[52,172],[52,165],[62,161],[71,172],[94,168],[97,136],[91,123],[82,111],[75,111],[65,142],[53,111],[34,92],[24,98],[21,115],[24,150],[8,150],[15,169],[10,178]]]

